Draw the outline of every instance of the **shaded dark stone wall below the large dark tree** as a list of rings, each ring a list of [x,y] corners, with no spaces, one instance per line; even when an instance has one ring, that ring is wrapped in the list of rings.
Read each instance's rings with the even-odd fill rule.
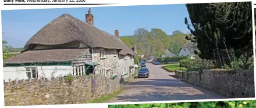
[[[227,98],[254,98],[254,70],[175,71],[176,77]]]

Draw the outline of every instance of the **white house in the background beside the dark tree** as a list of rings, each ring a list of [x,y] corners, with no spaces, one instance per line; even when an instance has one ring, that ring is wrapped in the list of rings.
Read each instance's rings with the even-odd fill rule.
[[[194,42],[188,42],[182,48],[180,48],[179,56],[189,56],[189,59],[195,58],[194,49],[197,48],[197,45]]]

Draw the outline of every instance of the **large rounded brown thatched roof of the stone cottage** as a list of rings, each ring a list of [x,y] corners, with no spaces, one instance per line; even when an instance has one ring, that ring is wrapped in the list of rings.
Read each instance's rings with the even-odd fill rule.
[[[57,17],[41,28],[29,39],[22,52],[29,51],[35,44],[59,45],[72,41],[84,42],[92,48],[120,49],[120,55],[134,55],[118,37],[67,14]]]

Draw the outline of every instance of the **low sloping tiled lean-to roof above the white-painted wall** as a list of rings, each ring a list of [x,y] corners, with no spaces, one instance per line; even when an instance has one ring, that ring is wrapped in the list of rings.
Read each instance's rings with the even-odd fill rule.
[[[48,63],[48,62],[66,62],[75,60],[89,49],[45,49],[37,51],[26,51],[3,61],[3,64],[9,63]]]

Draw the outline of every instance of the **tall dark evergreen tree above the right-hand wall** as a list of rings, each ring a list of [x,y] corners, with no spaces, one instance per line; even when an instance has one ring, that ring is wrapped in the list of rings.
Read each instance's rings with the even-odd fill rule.
[[[202,59],[212,59],[215,49],[253,48],[251,2],[193,3],[186,4],[191,24],[186,39],[197,42],[197,51]],[[241,54],[241,53],[240,53]],[[236,56],[240,56],[236,53]]]

